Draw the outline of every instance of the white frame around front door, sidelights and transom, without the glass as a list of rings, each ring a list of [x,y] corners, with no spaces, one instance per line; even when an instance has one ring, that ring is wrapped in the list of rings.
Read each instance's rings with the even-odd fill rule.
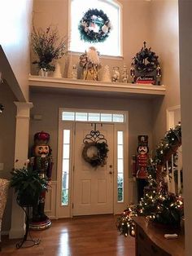
[[[74,132],[76,121],[62,121],[62,112],[87,112],[87,113],[124,113],[126,120],[124,123],[106,122],[107,124],[114,124],[114,145],[117,144],[116,134],[118,130],[124,131],[124,201],[117,202],[117,162],[114,157],[114,214],[120,214],[129,204],[129,133],[128,133],[128,112],[124,111],[103,111],[103,110],[91,110],[91,109],[75,109],[75,108],[59,108],[59,134],[58,134],[58,161],[57,161],[57,192],[56,192],[56,218],[72,218],[72,201],[73,201],[73,166],[74,166]],[[85,122],[85,121],[83,121]],[[96,121],[92,121],[94,123]],[[101,121],[99,121],[101,123]],[[96,122],[97,123],[97,122]],[[102,121],[102,123],[105,123]],[[69,176],[69,203],[68,205],[61,205],[61,180],[62,180],[62,145],[63,145],[63,129],[71,130],[70,138],[70,176]],[[116,147],[114,148],[114,155],[117,155]]]

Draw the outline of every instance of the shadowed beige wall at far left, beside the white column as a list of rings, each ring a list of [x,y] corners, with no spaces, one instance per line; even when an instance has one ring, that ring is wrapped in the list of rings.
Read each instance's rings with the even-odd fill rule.
[[[10,87],[6,84],[0,84],[0,103],[5,106],[0,114],[0,162],[4,164],[3,170],[0,170],[0,178],[10,179],[11,170],[14,166],[15,149],[15,114],[16,107],[13,103],[13,95]],[[11,191],[8,196],[5,218],[2,221],[2,230],[9,230],[11,227]]]

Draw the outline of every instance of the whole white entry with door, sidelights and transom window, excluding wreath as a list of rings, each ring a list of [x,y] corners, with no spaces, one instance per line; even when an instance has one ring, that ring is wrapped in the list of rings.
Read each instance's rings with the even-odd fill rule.
[[[59,109],[57,218],[120,214],[129,203],[128,113]],[[106,164],[82,157],[84,139],[98,130],[107,140]]]

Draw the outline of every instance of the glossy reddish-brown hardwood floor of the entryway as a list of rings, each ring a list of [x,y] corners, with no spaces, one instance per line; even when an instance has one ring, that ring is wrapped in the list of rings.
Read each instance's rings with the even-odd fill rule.
[[[30,232],[40,245],[16,249],[18,240],[2,236],[1,256],[134,256],[134,238],[116,229],[116,216],[97,215],[52,221],[44,231]]]

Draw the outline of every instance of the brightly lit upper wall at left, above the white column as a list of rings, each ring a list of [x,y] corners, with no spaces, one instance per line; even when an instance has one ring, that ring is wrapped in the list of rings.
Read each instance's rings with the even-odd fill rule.
[[[6,0],[1,2],[0,15],[0,45],[11,64],[13,73],[19,85],[14,90],[22,90],[20,99],[28,100],[28,73],[30,72],[29,61],[29,33],[31,29],[31,14],[33,10],[33,0]],[[2,77],[7,79],[8,70],[2,73]]]

